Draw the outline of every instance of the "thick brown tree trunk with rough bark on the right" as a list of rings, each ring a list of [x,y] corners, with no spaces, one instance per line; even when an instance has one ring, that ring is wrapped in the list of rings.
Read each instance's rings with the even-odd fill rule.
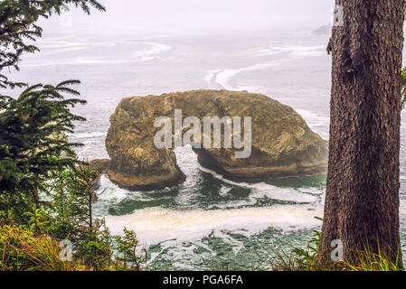
[[[404,0],[336,0],[325,215],[317,260],[340,239],[396,259]],[[379,245],[378,245],[379,244]]]

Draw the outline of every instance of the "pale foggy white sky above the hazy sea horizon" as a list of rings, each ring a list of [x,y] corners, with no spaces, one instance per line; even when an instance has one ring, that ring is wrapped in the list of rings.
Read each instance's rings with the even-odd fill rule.
[[[335,0],[100,0],[106,13],[71,15],[42,22],[46,31],[90,33],[227,32],[316,29],[331,23]]]

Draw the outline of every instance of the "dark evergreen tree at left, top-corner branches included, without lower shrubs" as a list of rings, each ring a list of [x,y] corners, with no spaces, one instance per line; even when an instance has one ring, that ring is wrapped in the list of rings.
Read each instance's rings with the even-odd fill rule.
[[[0,2],[0,89],[24,87],[9,81],[1,72],[18,70],[24,53],[38,51],[32,43],[42,36],[40,18],[61,14],[68,5],[104,10],[95,0],[3,0]],[[75,121],[85,120],[71,113],[71,107],[85,104],[67,80],[57,86],[34,85],[19,98],[0,91],[0,219],[14,219],[26,224],[27,211],[36,210],[45,182],[52,172],[74,167],[78,163],[66,134],[72,133]],[[24,217],[25,216],[25,217]]]

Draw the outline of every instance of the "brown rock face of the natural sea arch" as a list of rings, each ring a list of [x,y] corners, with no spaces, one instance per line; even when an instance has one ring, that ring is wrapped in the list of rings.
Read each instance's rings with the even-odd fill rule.
[[[194,148],[199,163],[227,178],[257,180],[326,171],[327,142],[292,107],[246,91],[193,90],[121,100],[110,117],[106,139],[111,181],[136,190],[184,181],[173,149],[154,145],[161,129],[154,127],[156,118],[170,117],[174,124],[175,109],[182,109],[183,117],[198,117],[202,124],[203,117],[251,117],[250,157],[236,158],[241,150],[223,146]]]

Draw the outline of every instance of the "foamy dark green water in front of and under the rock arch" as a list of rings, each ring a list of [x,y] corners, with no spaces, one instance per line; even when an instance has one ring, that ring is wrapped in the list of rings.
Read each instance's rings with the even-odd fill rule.
[[[266,268],[275,250],[303,247],[321,222],[326,175],[231,182],[177,150],[186,182],[162,191],[125,191],[103,178],[96,211],[113,234],[133,228],[149,248],[148,268]]]

